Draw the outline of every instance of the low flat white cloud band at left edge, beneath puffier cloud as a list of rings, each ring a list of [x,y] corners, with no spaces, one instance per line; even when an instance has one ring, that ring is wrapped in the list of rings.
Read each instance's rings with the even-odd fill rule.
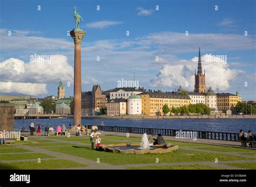
[[[24,95],[42,95],[47,93],[46,84],[23,82],[0,82],[0,92],[22,93]]]

